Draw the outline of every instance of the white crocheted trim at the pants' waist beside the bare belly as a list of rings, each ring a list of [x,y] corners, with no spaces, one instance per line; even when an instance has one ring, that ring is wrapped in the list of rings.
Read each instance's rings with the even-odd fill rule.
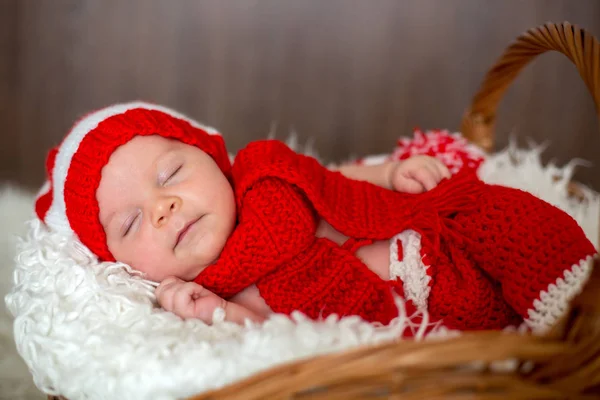
[[[402,261],[398,260],[398,240],[402,243]],[[421,235],[418,232],[407,229],[391,239],[390,279],[402,280],[406,299],[412,300],[419,310],[427,309],[427,298],[431,291],[428,268],[421,257]]]

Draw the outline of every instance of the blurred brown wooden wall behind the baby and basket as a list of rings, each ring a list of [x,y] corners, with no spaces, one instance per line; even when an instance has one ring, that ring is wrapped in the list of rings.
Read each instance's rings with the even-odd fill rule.
[[[457,129],[484,73],[546,21],[600,37],[600,1],[0,0],[0,181],[31,187],[81,114],[163,103],[230,150],[276,132],[327,160],[391,149],[415,126]],[[600,164],[591,97],[563,56],[528,67],[501,106],[547,157]],[[600,165],[578,179],[600,189]]]

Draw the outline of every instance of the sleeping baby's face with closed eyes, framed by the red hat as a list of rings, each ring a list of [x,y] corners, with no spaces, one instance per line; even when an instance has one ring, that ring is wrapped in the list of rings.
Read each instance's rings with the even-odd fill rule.
[[[194,279],[235,226],[233,190],[202,150],[137,136],[111,155],[96,192],[108,248],[148,279]]]

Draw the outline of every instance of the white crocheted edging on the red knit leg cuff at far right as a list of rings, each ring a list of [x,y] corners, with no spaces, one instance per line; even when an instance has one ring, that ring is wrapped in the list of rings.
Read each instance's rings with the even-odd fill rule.
[[[533,301],[529,309],[529,318],[525,324],[534,333],[547,332],[568,310],[569,302],[581,292],[592,271],[592,256],[574,264],[571,270],[565,270],[562,278],[542,290],[540,297]]]

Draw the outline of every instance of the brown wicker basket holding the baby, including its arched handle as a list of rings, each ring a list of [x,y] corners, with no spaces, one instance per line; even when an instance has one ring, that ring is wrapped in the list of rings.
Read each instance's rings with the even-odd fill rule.
[[[490,151],[497,106],[520,70],[548,50],[577,66],[600,114],[600,44],[568,23],[531,29],[488,72],[462,132]],[[577,194],[577,186],[572,186]],[[545,336],[497,331],[365,346],[278,366],[190,400],[600,398],[600,263],[571,310]],[[510,360],[514,368],[499,368]],[[50,397],[52,399],[52,397]]]

